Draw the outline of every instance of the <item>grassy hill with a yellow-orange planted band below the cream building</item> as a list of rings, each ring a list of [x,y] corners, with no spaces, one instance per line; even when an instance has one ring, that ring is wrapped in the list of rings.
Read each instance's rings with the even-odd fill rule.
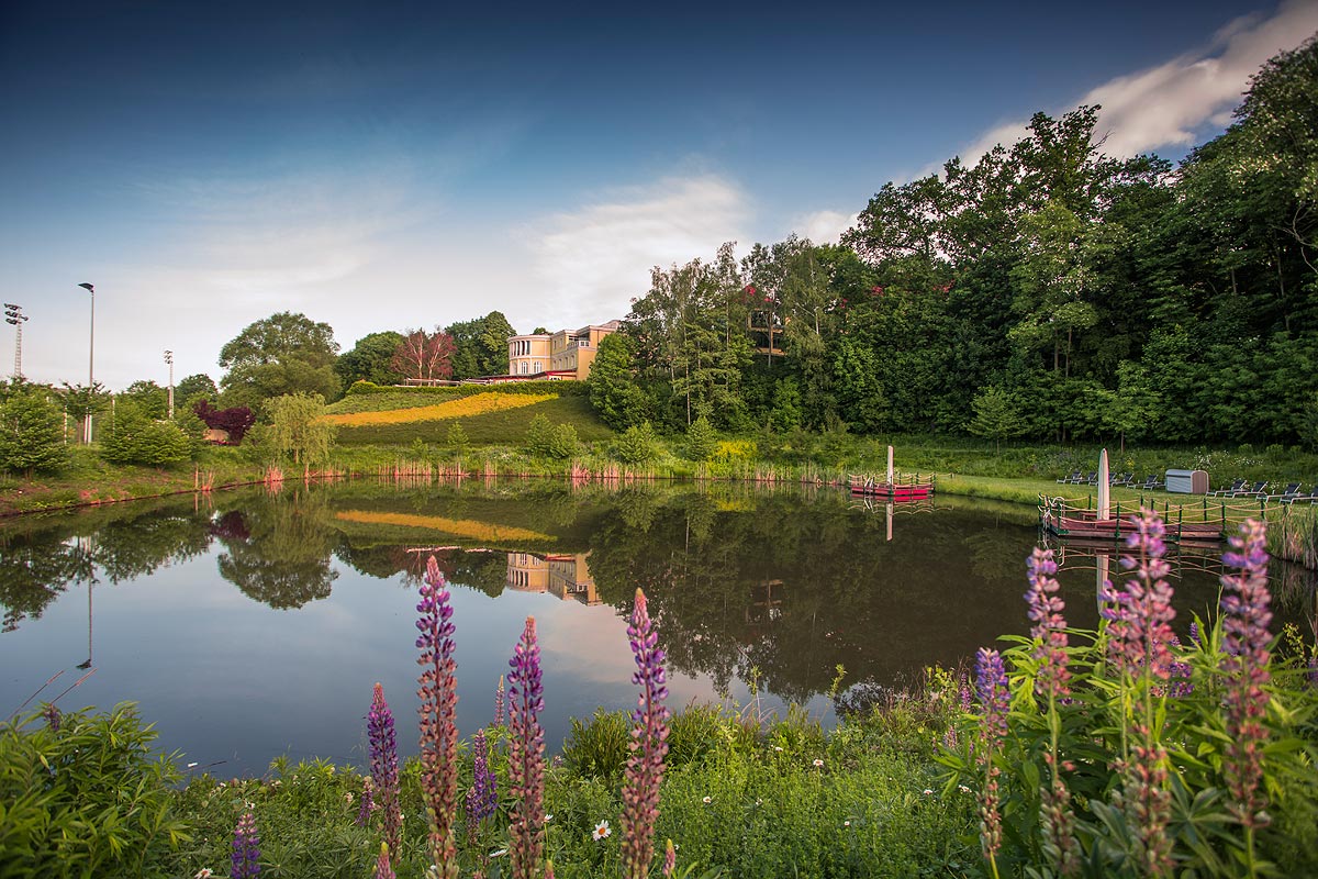
[[[535,387],[498,386],[407,389],[351,394],[327,409],[331,415],[378,414],[390,423],[341,423],[341,445],[410,445],[415,440],[443,444],[453,423],[463,426],[473,445],[517,445],[536,415],[552,424],[571,424],[584,441],[614,432],[601,422],[584,389],[565,382],[536,382]]]

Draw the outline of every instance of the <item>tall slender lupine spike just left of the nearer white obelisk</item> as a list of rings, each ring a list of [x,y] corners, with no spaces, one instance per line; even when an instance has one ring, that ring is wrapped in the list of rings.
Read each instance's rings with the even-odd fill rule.
[[[1079,868],[1079,849],[1075,843],[1070,793],[1062,781],[1058,756],[1061,721],[1057,706],[1070,698],[1070,671],[1066,668],[1066,618],[1062,615],[1066,605],[1057,596],[1054,573],[1057,563],[1053,561],[1053,551],[1036,548],[1029,557],[1029,592],[1025,593],[1025,600],[1029,602],[1029,618],[1035,623],[1029,634],[1037,642],[1035,692],[1048,700],[1049,746],[1044,762],[1050,778],[1041,792],[1041,818],[1050,854],[1065,876],[1074,875]]]

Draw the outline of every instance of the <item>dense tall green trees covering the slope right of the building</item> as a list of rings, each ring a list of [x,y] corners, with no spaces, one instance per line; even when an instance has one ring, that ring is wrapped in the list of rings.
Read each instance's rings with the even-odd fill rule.
[[[1318,46],[1178,167],[1097,107],[883,186],[837,246],[655,269],[601,345],[618,427],[1313,443]]]

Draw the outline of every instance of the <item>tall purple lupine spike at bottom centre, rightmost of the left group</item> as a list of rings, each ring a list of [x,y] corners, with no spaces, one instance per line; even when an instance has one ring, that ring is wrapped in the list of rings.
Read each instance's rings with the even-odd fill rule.
[[[641,688],[637,710],[631,713],[631,741],[627,771],[622,781],[622,870],[630,879],[645,879],[654,859],[654,829],[659,818],[659,785],[663,783],[664,755],[668,754],[668,696],[663,667],[664,652],[656,644],[646,605],[646,593],[637,589],[627,639],[637,660],[631,683]]]

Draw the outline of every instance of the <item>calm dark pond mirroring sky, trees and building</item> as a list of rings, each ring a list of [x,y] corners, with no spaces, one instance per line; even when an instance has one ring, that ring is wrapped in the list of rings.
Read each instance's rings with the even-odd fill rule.
[[[434,555],[452,586],[463,737],[493,720],[527,615],[552,750],[572,717],[630,709],[638,586],[670,704],[796,702],[832,723],[837,700],[1025,633],[1039,540],[1019,505],[936,497],[890,514],[837,489],[728,484],[289,484],[24,517],[0,523],[0,710],[92,672],[62,708],[138,702],[163,749],[229,776],[282,754],[364,763],[380,681],[414,754],[416,586]],[[1095,557],[1110,552],[1062,550],[1074,625],[1097,622]],[[1217,602],[1215,555],[1174,551],[1182,634]],[[1273,579],[1275,627],[1311,613],[1307,572]]]

